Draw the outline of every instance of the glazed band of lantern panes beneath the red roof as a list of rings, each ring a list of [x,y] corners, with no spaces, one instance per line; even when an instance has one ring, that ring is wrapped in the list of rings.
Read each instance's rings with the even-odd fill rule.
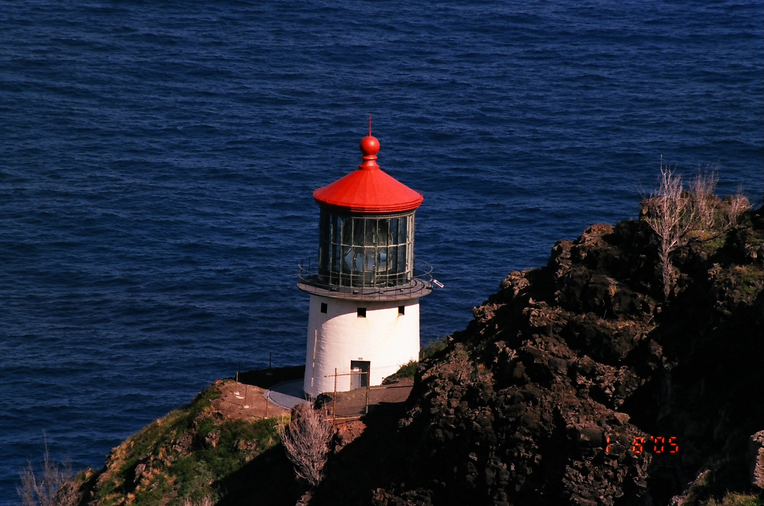
[[[384,288],[413,277],[414,212],[348,216],[321,210],[319,276],[336,286]]]

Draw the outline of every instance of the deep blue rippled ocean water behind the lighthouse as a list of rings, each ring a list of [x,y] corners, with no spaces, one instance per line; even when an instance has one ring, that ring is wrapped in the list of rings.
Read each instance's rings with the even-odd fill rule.
[[[461,329],[659,160],[764,189],[764,3],[0,0],[0,506],[242,369],[303,363],[311,192],[379,163]]]

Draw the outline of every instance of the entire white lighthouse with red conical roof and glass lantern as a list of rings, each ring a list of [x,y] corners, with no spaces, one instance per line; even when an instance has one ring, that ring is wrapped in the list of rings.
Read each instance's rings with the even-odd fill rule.
[[[358,169],[313,192],[318,257],[299,264],[297,282],[310,295],[308,398],[380,385],[419,359],[419,298],[432,292],[429,266],[414,264],[424,198],[380,169],[379,150],[370,123]]]

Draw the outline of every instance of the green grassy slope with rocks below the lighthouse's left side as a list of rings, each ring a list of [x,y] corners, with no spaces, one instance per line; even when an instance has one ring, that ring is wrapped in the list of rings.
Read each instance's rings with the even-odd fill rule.
[[[98,476],[95,504],[116,506],[127,497],[141,506],[184,506],[220,498],[225,490],[217,484],[279,437],[273,418],[223,420],[212,408],[219,395],[215,386],[207,388],[112,450]],[[80,482],[87,478],[78,476]]]

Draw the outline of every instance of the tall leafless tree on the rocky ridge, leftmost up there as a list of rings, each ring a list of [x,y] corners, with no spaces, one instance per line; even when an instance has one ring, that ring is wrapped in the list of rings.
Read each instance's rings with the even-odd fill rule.
[[[687,243],[687,233],[698,223],[696,206],[684,192],[681,176],[661,161],[659,188],[648,200],[645,221],[659,238],[658,257],[663,282],[663,295],[669,297],[675,281],[672,253]]]

